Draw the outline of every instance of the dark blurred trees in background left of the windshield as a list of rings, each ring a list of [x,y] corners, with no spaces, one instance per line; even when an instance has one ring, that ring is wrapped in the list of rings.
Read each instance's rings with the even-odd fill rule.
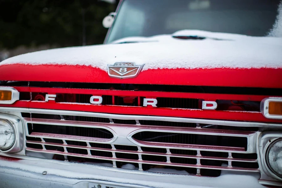
[[[107,0],[109,1],[109,0]],[[118,0],[117,0],[118,3]],[[117,3],[101,0],[0,0],[0,53],[17,48],[102,44],[102,20]],[[0,60],[1,61],[1,60]]]

